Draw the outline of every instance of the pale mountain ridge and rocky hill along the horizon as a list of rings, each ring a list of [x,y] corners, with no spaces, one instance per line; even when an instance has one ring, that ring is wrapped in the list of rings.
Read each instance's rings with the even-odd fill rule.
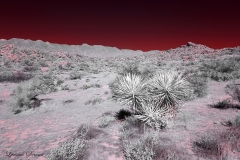
[[[127,55],[129,57],[140,56],[143,54],[178,54],[184,53],[188,54],[218,54],[220,52],[240,52],[240,46],[234,48],[222,48],[222,49],[212,49],[202,44],[196,44],[193,42],[187,42],[187,44],[177,47],[175,49],[169,49],[165,51],[152,50],[148,52],[143,52],[141,50],[130,50],[130,49],[118,49],[116,47],[107,47],[102,45],[66,45],[66,44],[54,44],[49,42],[43,42],[41,40],[32,41],[24,40],[18,38],[12,38],[9,40],[0,40],[0,46],[14,44],[15,47],[27,48],[27,49],[39,49],[43,51],[62,51],[73,54],[80,54],[89,57],[122,57]]]

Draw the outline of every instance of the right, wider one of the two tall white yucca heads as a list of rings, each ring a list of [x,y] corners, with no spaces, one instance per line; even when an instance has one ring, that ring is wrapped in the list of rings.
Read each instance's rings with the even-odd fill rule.
[[[191,84],[175,71],[161,71],[149,81],[149,93],[158,107],[174,107],[178,101],[193,93]]]

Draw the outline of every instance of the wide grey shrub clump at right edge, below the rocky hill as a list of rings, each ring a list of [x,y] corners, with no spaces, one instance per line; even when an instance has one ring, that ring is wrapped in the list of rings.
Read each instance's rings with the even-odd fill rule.
[[[228,81],[240,78],[240,57],[231,57],[223,60],[210,60],[202,63],[199,70],[203,75],[216,81]]]

